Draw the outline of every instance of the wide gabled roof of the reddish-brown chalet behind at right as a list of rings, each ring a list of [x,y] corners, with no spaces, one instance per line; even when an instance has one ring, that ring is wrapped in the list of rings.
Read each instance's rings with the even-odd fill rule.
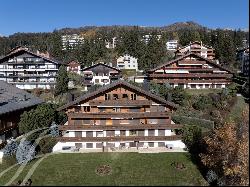
[[[205,60],[208,64],[212,64],[212,65],[214,65],[214,66],[216,66],[216,67],[218,67],[218,68],[220,68],[220,69],[223,69],[223,70],[227,71],[228,73],[233,73],[231,70],[226,69],[226,68],[220,66],[219,64],[216,64],[215,62],[213,62],[213,61],[211,61],[211,60],[208,60],[208,59],[206,59],[206,58],[204,58],[204,57],[202,57],[202,56],[200,56],[200,55],[197,55],[197,54],[195,54],[195,53],[188,53],[188,54],[183,55],[183,56],[181,56],[181,57],[179,57],[179,58],[176,58],[176,59],[174,59],[174,60],[170,60],[170,61],[168,61],[168,62],[165,62],[165,63],[163,63],[163,64],[157,66],[156,68],[149,70],[148,72],[156,71],[156,70],[162,68],[163,66],[168,66],[168,65],[170,65],[170,64],[173,64],[173,63],[175,63],[175,62],[177,62],[177,61],[179,61],[179,60],[182,60],[182,59],[184,59],[184,58],[187,58],[187,57],[189,57],[189,56],[195,56],[196,58],[200,58],[200,59],[202,59],[202,60]]]

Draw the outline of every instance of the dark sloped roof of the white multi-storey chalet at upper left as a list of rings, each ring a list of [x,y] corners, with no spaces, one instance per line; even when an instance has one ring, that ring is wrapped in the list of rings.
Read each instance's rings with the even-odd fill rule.
[[[17,47],[17,48],[18,48],[18,47]],[[23,54],[23,53],[28,53],[28,54],[33,55],[33,56],[36,56],[36,57],[38,57],[38,58],[42,58],[42,59],[44,59],[44,60],[46,60],[46,61],[52,62],[52,63],[54,63],[54,64],[67,65],[67,64],[64,63],[64,62],[61,62],[61,61],[58,61],[58,60],[55,60],[55,59],[52,59],[52,58],[46,58],[46,57],[44,57],[44,56],[35,54],[35,53],[33,53],[33,52],[31,52],[31,51],[25,49],[25,48],[20,48],[19,50],[16,50],[16,51],[15,51],[15,50],[16,50],[16,48],[13,49],[13,50],[12,50],[9,54],[7,54],[6,56],[4,56],[3,58],[1,58],[1,59],[0,59],[0,63],[4,62],[4,61],[6,61],[6,60],[8,60],[9,58],[12,58],[12,57],[14,57],[14,56],[17,56],[17,55],[20,55],[20,54]]]

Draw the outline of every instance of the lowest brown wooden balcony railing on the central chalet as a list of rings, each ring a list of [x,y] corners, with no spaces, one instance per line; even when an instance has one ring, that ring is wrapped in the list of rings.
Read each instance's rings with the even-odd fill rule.
[[[181,135],[172,136],[116,136],[116,137],[59,137],[60,142],[117,142],[117,141],[168,141],[181,140]]]

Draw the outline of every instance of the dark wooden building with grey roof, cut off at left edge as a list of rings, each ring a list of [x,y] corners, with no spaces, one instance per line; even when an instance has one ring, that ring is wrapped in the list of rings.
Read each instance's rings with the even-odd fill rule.
[[[0,81],[0,145],[18,135],[20,115],[42,102],[40,98]]]

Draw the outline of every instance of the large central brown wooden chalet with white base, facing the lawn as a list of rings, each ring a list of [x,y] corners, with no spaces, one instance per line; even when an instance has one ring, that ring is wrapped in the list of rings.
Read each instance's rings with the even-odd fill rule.
[[[170,114],[172,102],[148,91],[117,81],[60,107],[68,121],[59,127],[63,136],[53,151],[121,147],[184,148]]]

